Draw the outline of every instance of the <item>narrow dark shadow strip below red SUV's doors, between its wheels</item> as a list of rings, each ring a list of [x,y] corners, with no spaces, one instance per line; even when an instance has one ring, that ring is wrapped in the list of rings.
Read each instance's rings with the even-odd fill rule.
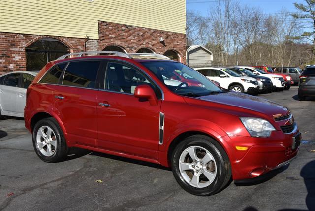
[[[90,155],[114,159],[114,160],[123,161],[123,162],[127,162],[127,163],[138,164],[138,165],[142,165],[142,166],[148,166],[148,167],[167,170],[167,171],[172,171],[170,168],[164,167],[164,166],[159,165],[159,164],[149,163],[149,162],[145,162],[145,161],[141,161],[141,160],[135,160],[135,159],[131,159],[131,158],[119,157],[119,156],[104,154],[104,153],[100,153],[100,152],[92,152]]]

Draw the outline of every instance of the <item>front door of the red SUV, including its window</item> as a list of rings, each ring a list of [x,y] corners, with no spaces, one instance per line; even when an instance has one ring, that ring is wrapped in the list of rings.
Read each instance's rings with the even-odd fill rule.
[[[97,94],[98,146],[135,156],[158,159],[158,106],[133,96],[137,85],[153,82],[126,63],[108,62],[103,89]]]

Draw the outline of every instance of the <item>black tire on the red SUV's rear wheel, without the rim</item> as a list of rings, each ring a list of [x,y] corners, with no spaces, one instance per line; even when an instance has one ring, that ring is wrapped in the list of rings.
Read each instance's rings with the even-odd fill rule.
[[[37,137],[38,130],[42,126],[50,127],[55,134],[54,137],[55,137],[55,140],[57,141],[57,144],[56,144],[56,147],[53,147],[54,153],[51,156],[45,156],[40,151],[39,147],[37,146],[36,137]],[[33,147],[34,147],[36,154],[38,155],[38,157],[41,160],[48,162],[48,163],[55,163],[55,162],[62,161],[67,156],[67,154],[70,150],[70,148],[66,144],[66,141],[65,141],[65,138],[63,135],[63,131],[61,130],[59,124],[57,123],[57,121],[54,118],[45,118],[45,119],[38,121],[34,127],[32,139],[33,139]],[[46,146],[46,150],[47,150],[47,146]]]

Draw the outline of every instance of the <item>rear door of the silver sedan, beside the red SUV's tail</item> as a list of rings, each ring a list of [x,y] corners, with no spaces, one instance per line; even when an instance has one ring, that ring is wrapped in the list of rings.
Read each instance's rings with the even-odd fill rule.
[[[17,103],[17,112],[21,115],[24,115],[24,107],[26,104],[26,90],[29,87],[29,85],[34,80],[35,76],[28,74],[28,73],[22,73],[21,74],[21,84],[19,88],[17,88],[18,91],[18,103]]]

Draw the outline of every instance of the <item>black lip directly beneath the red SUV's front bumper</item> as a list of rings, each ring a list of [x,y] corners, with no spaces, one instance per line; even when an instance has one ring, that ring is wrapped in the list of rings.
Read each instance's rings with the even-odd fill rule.
[[[270,171],[266,174],[263,174],[261,176],[258,176],[258,177],[252,178],[252,179],[234,181],[234,184],[236,186],[251,186],[251,185],[264,183],[264,182],[270,180],[271,178],[273,178],[274,176],[278,175],[279,173],[283,172],[284,170],[286,170],[289,167],[289,165],[290,164],[285,165],[279,169],[275,169],[273,171]]]

